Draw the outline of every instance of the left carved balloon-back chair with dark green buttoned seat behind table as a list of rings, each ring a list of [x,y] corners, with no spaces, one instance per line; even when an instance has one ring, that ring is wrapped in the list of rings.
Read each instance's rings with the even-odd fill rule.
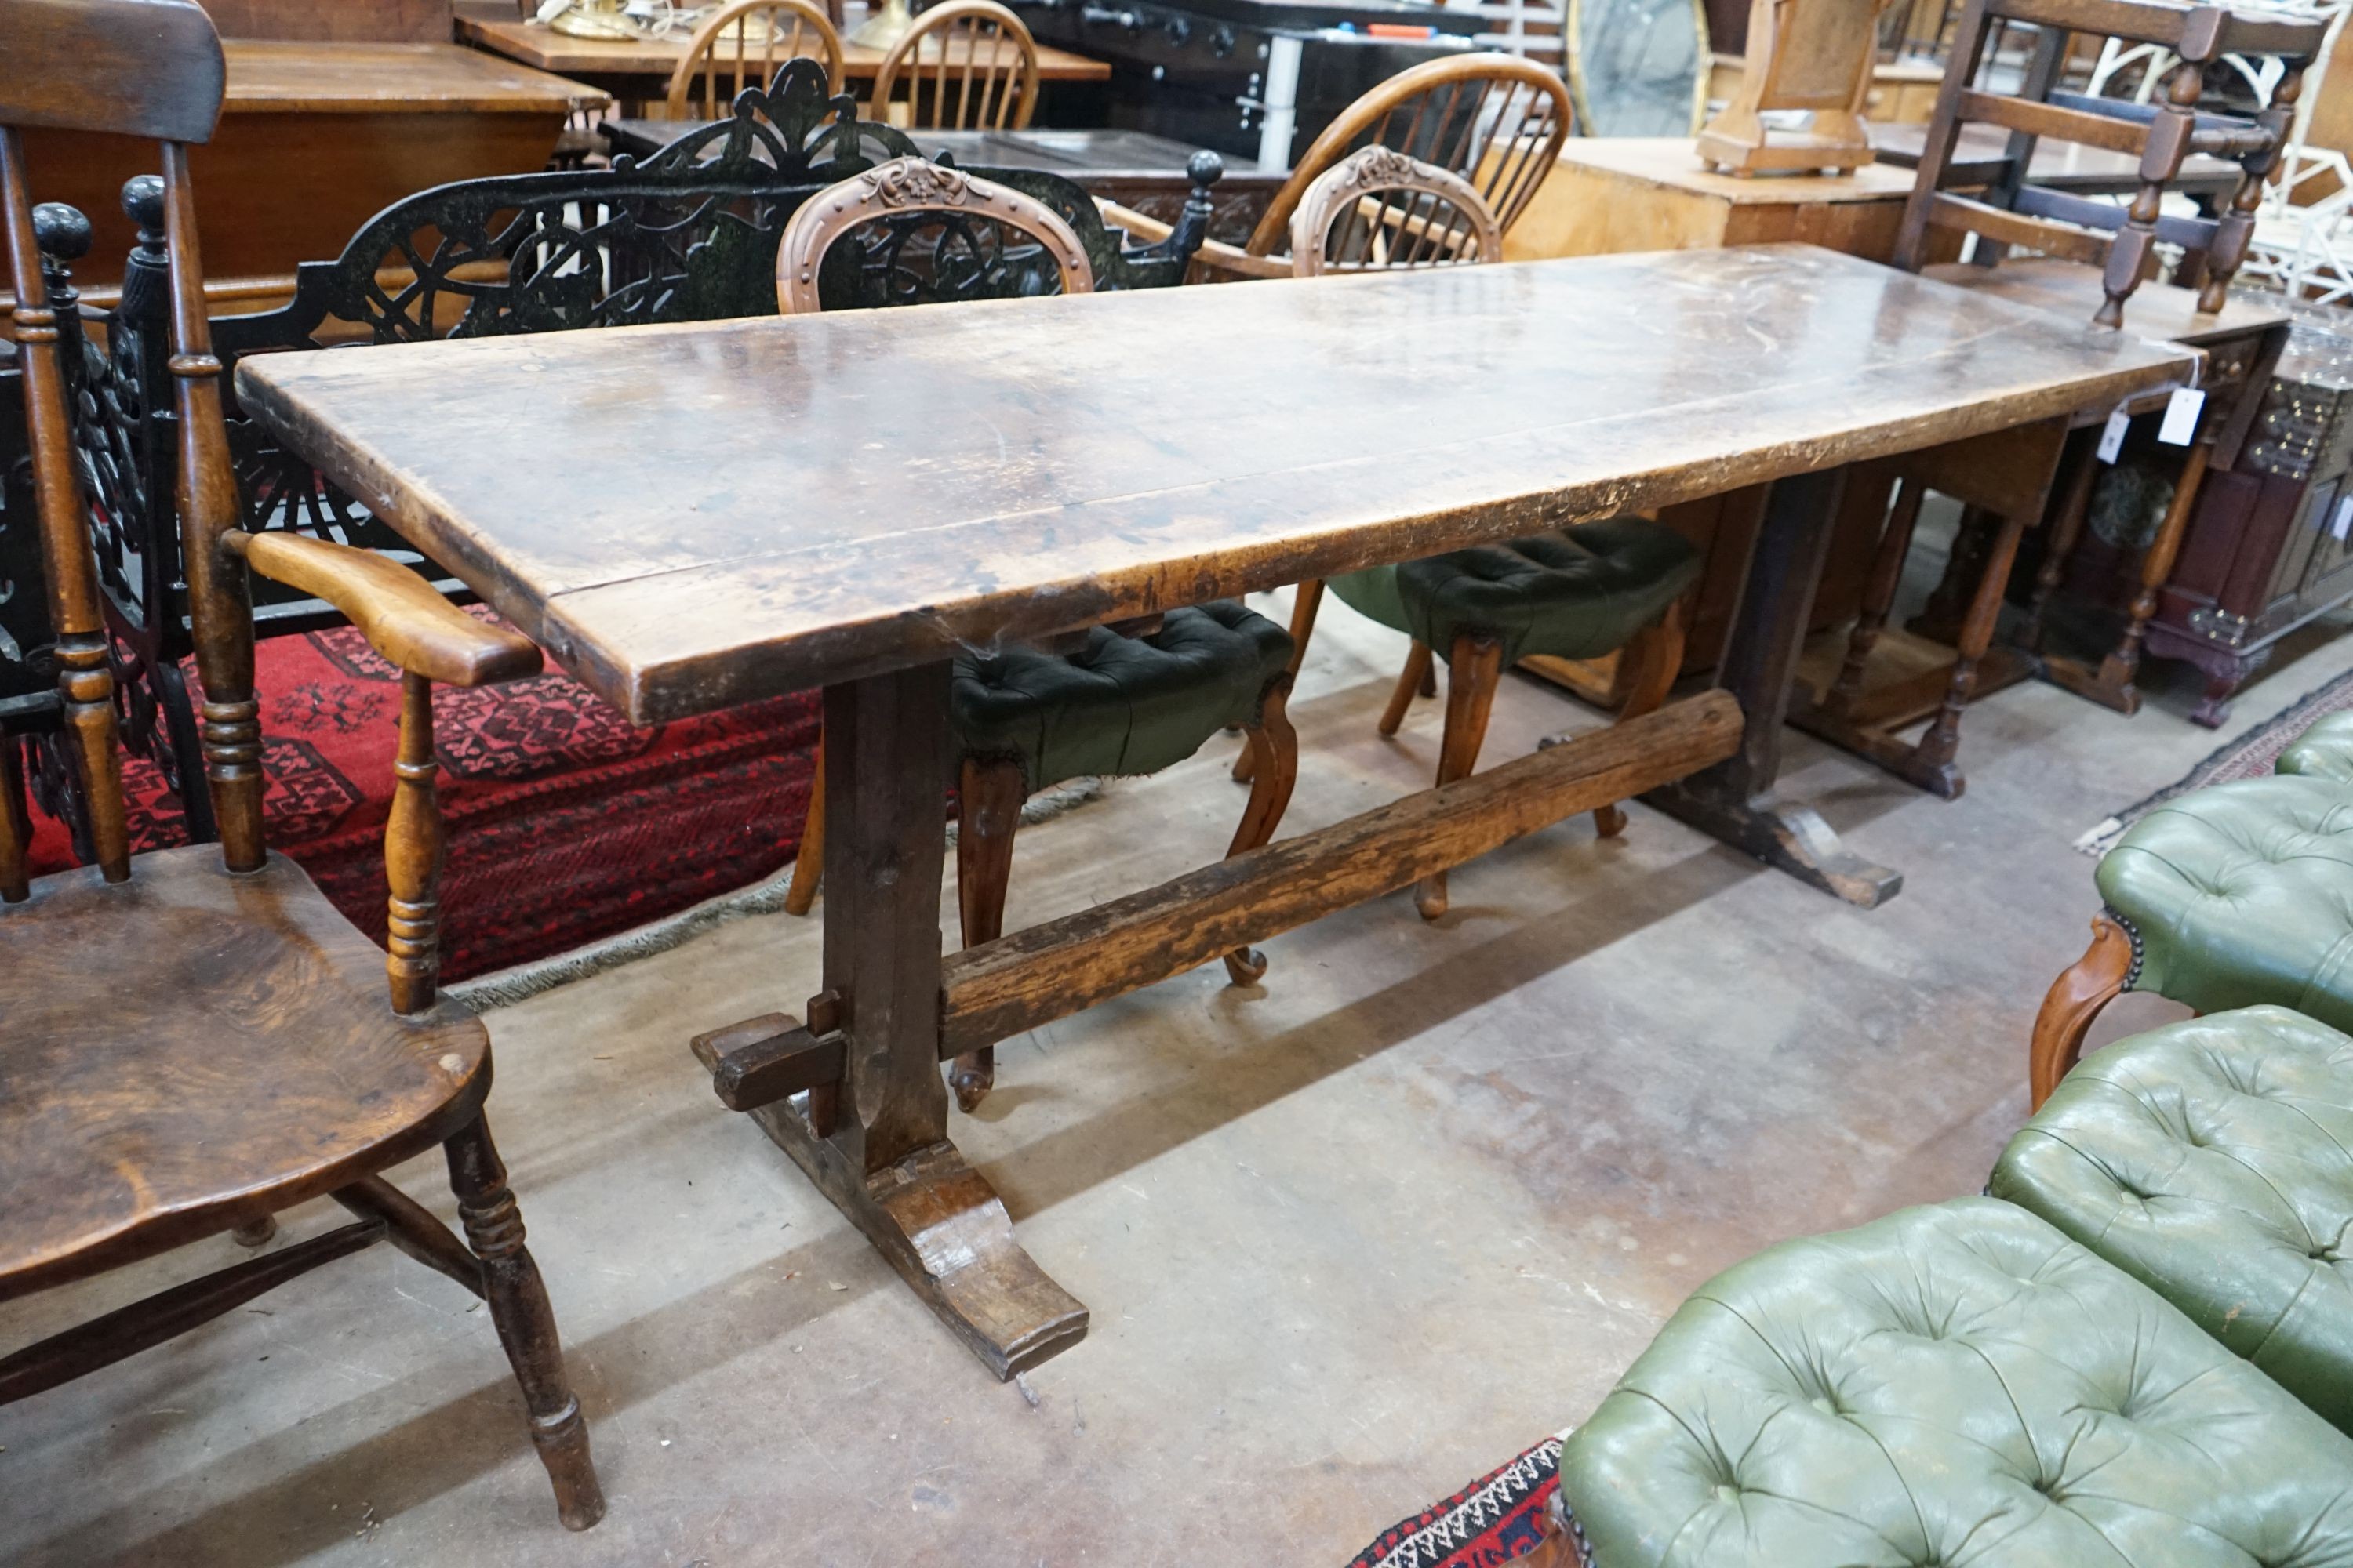
[[[1207,179],[1195,158],[1195,195],[1184,228],[1209,221]],[[1012,172],[993,179],[901,158],[809,200],[776,252],[776,303],[791,315],[845,306],[920,303],[939,296],[1002,299],[1089,294],[1099,275],[1075,221],[1092,207],[1054,212],[1016,190]],[[1099,223],[1096,223],[1099,226]],[[1094,625],[1040,646],[1012,644],[958,654],[948,691],[955,736],[955,889],[967,947],[1005,926],[1021,806],[1038,790],[1078,776],[1136,776],[1184,762],[1221,729],[1242,729],[1257,783],[1226,856],[1266,844],[1282,820],[1299,773],[1299,745],[1282,712],[1292,686],[1292,639],[1235,602],[1209,602]],[[824,792],[793,865],[786,910],[807,914],[824,870]],[[1226,954],[1226,973],[1249,985],[1264,954]],[[967,1112],[995,1081],[995,1048],[958,1056],[948,1084]]]

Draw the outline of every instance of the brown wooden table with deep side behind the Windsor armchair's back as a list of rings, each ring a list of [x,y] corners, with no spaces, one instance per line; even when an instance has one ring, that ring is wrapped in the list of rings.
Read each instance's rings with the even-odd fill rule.
[[[207,296],[282,292],[301,261],[344,242],[405,195],[452,179],[529,174],[548,162],[574,108],[609,99],[581,82],[459,45],[228,40],[228,101],[188,148],[200,193]],[[132,221],[122,181],[155,172],[134,136],[26,132],[35,195],[80,207],[96,228],[75,277],[104,299],[122,280]],[[256,282],[264,280],[264,282]]]

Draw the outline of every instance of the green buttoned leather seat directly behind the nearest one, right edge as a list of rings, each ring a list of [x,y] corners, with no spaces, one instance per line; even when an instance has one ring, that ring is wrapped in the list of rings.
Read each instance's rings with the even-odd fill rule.
[[[2254,1006],[2118,1041],[2009,1140],[1993,1194],[2353,1432],[2353,1039]]]

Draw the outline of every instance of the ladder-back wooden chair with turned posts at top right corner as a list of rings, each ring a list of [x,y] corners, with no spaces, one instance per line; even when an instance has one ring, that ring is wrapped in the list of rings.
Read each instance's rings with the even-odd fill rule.
[[[1974,87],[1993,31],[2012,21],[2035,26],[2035,47],[2019,92]],[[2177,54],[2181,63],[2167,80],[2162,101],[2137,103],[2061,92],[2068,42],[2075,33],[2151,42]],[[2254,237],[2254,209],[2264,200],[2264,181],[2294,118],[2304,71],[2320,54],[2325,38],[2327,21],[2320,16],[2233,12],[2217,5],[1967,0],[1920,148],[1913,193],[1904,205],[1894,263],[1918,273],[1929,256],[1929,230],[1941,228],[1977,235],[1974,259],[1988,266],[2009,247],[2099,266],[2106,299],[2092,320],[2120,327],[2125,301],[2148,275],[2155,247],[2165,242],[2205,254],[2198,308],[2221,310],[2231,277]],[[2268,108],[2254,115],[2198,108],[2207,73],[2219,68],[2226,54],[2275,56],[2285,63]],[[1944,186],[1951,179],[1960,129],[1972,122],[2007,129],[2009,146],[2002,174],[1991,188],[1981,195],[1958,195]],[[2031,183],[2028,167],[2035,143],[2045,136],[2139,158],[2139,188],[2132,202],[2118,207]],[[2238,190],[2219,219],[2162,212],[2165,188],[2181,176],[2181,162],[2191,153],[2231,158],[2240,165]]]

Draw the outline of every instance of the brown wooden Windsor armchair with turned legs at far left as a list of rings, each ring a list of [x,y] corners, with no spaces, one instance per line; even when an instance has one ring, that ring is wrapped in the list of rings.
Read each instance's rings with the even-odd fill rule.
[[[205,320],[188,150],[221,108],[221,45],[193,0],[0,0],[0,223],[64,729],[96,865],[26,877],[24,823],[0,811],[0,1300],[245,1229],[334,1197],[355,1225],[252,1258],[0,1359],[0,1401],[108,1366],[254,1295],[391,1241],[489,1305],[565,1526],[605,1500],[565,1382],[555,1316],[522,1241],[482,1103],[489,1037],[435,997],[440,820],[433,682],[539,670],[539,649],[449,607],[362,550],[238,527],[221,362]],[[205,769],[221,846],[127,849],[115,693],[87,510],[42,299],[19,127],[160,141],[176,473],[205,677]],[[405,672],[398,799],[386,832],[391,954],[376,952],[261,842],[261,731],[247,571],[334,602]],[[5,795],[14,799],[16,785]],[[386,994],[388,978],[388,994]],[[384,1171],[440,1145],[466,1244]],[[468,1251],[471,1248],[471,1251]]]

